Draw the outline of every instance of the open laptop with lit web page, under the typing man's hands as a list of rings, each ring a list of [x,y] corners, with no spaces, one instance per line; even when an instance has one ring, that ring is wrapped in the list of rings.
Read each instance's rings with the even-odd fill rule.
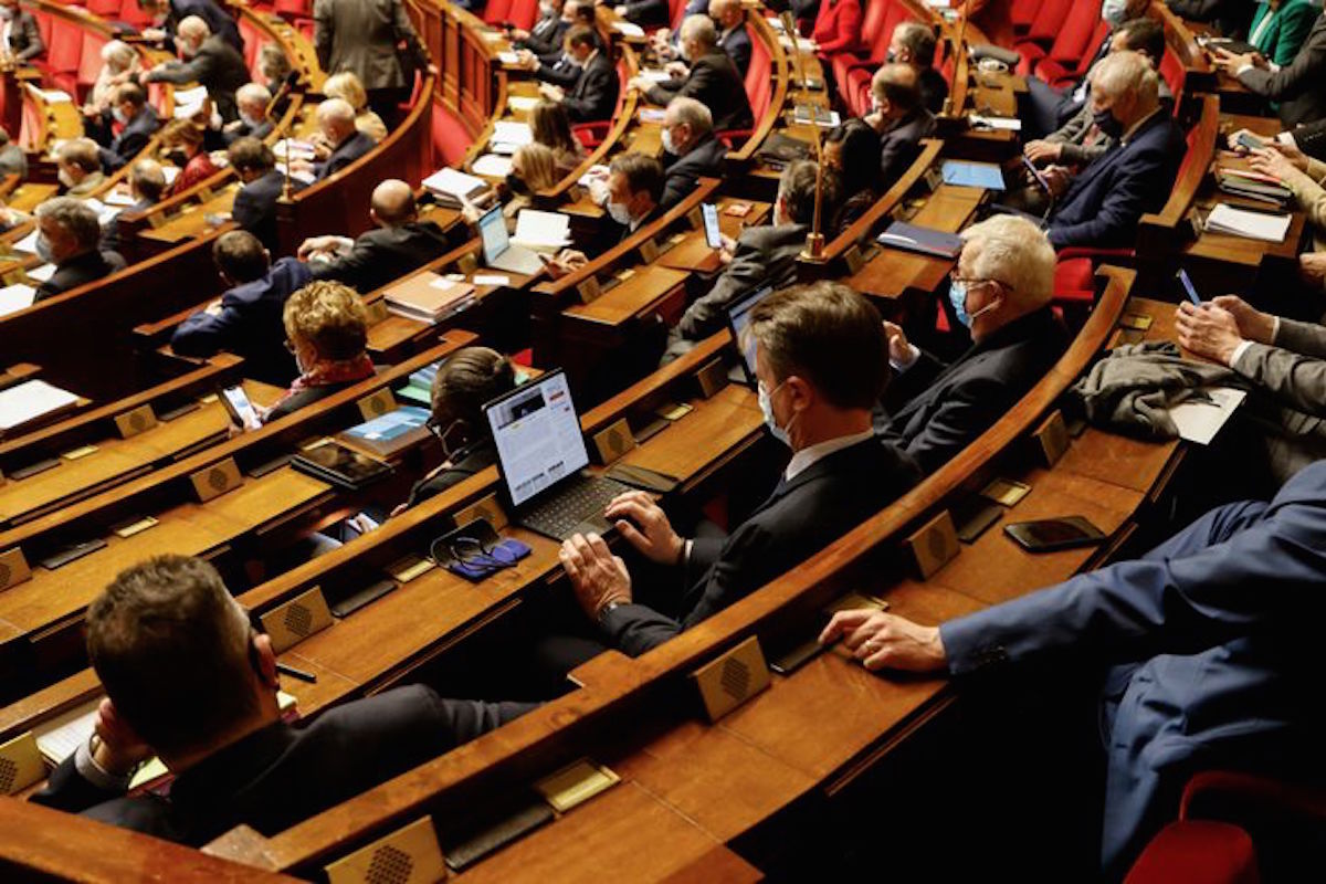
[[[484,406],[497,443],[497,465],[517,525],[565,541],[605,533],[609,501],[629,485],[589,476],[589,451],[562,370],[517,387]]]

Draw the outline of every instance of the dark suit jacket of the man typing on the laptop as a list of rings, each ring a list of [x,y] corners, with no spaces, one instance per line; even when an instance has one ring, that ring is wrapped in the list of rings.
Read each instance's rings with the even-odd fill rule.
[[[780,481],[729,537],[692,541],[674,616],[623,604],[599,626],[613,647],[644,653],[805,562],[919,480],[916,464],[878,436],[837,451]]]

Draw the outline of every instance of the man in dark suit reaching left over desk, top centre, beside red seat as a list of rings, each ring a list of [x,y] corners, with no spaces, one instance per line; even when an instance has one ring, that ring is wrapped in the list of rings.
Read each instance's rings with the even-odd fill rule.
[[[754,115],[745,94],[745,82],[717,41],[719,32],[713,27],[713,19],[691,16],[682,23],[682,57],[690,62],[686,77],[674,76],[660,83],[634,77],[630,87],[639,90],[654,105],[667,105],[679,95],[695,98],[709,109],[713,127],[719,131],[751,129]]]

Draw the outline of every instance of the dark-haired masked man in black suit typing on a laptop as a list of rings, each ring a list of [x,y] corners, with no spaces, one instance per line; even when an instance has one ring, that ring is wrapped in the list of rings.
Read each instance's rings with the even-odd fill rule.
[[[792,460],[773,494],[727,538],[683,539],[643,492],[609,504],[622,538],[675,570],[676,584],[660,587],[656,607],[635,602],[644,587],[633,588],[603,538],[577,534],[562,543],[562,567],[599,648],[638,656],[658,647],[806,561],[919,480],[916,464],[870,425],[888,368],[879,313],[866,298],[835,282],[784,289],[752,310],[751,334],[765,424]],[[560,663],[593,655],[594,643],[579,644]]]

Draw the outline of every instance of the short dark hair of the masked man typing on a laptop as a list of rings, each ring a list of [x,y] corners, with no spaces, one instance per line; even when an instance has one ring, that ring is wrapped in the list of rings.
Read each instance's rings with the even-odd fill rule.
[[[873,408],[888,382],[879,311],[841,282],[774,292],[751,313],[751,333],[780,383],[797,375],[838,408]]]

